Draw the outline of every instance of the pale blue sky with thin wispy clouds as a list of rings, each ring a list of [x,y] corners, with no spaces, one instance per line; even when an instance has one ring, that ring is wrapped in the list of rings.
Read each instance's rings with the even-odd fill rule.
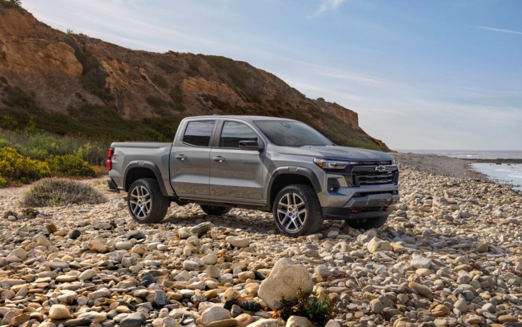
[[[131,49],[246,61],[392,149],[522,149],[522,1],[22,0]]]

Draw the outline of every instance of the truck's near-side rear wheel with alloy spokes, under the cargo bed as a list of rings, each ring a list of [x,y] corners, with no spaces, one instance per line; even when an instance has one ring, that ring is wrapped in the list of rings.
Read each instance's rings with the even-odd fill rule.
[[[144,191],[146,191],[149,196],[139,197],[139,194],[145,194]],[[148,200],[150,200],[150,202]],[[149,203],[150,205],[148,205]],[[169,198],[161,194],[160,185],[158,181],[153,178],[136,180],[132,183],[127,193],[129,213],[131,217],[140,224],[159,223],[165,215],[167,215],[169,205]],[[141,208],[143,208],[143,210]]]

